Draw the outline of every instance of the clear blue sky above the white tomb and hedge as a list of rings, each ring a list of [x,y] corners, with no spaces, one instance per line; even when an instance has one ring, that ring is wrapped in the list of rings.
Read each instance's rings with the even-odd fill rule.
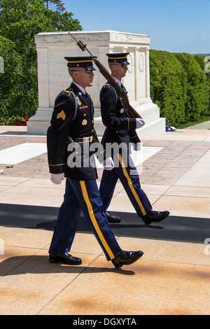
[[[83,31],[147,34],[151,49],[210,53],[210,0],[63,0]]]

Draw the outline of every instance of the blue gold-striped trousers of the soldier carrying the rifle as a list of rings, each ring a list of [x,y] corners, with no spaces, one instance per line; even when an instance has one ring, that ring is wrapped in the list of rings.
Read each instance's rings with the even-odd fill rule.
[[[104,170],[99,188],[104,211],[109,208],[118,179],[120,179],[139,217],[148,214],[152,206],[141,189],[139,174],[129,154],[118,155],[118,162],[112,170]]]

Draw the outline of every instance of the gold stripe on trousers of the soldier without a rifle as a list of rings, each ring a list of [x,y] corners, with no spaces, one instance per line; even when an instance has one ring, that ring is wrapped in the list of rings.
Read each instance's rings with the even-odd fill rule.
[[[91,204],[91,202],[89,200],[89,197],[87,195],[87,189],[86,189],[86,186],[85,186],[85,181],[80,181],[80,186],[82,188],[82,193],[83,193],[84,200],[87,204],[87,209],[88,209],[88,212],[89,212],[89,215],[90,215],[90,219],[92,221],[92,225],[94,226],[94,229],[96,230],[97,235],[99,236],[99,239],[102,241],[102,244],[103,244],[104,248],[106,249],[106,252],[108,253],[109,257],[112,260],[113,258],[115,258],[115,256],[113,255],[113,252],[111,251],[111,248],[109,248],[106,240],[104,239],[104,235],[102,234],[102,231],[99,229],[99,225],[97,223],[97,220],[95,219],[94,212],[92,210],[92,204]]]

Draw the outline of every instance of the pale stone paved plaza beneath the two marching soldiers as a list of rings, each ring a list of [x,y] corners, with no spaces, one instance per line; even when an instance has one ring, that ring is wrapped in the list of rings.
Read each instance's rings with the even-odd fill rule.
[[[62,203],[64,182],[61,186],[50,182],[45,137],[28,136],[25,131],[25,127],[0,126],[1,218],[8,216],[3,213],[3,205],[11,205],[11,209],[14,205],[17,209],[20,205],[23,209],[52,209]],[[144,147],[139,154],[143,158],[135,155],[135,162],[153,209],[168,209],[170,216],[195,221],[206,218],[210,225],[210,130],[178,130],[141,140]],[[27,158],[28,146],[34,148],[31,158]],[[6,157],[12,160],[3,163]],[[101,176],[99,169],[98,181]],[[120,183],[109,211],[134,213]],[[25,214],[25,221],[30,220]],[[162,230],[169,220],[161,223]],[[188,230],[186,220],[183,233]],[[121,269],[106,261],[94,235],[80,232],[76,233],[71,253],[82,258],[83,264],[52,265],[48,262],[51,238],[52,230],[46,228],[0,222],[0,314],[120,318],[210,313],[210,236],[203,243],[195,243],[186,242],[184,234],[183,241],[176,241],[176,237],[166,240],[118,235],[125,250],[144,251],[140,260]]]

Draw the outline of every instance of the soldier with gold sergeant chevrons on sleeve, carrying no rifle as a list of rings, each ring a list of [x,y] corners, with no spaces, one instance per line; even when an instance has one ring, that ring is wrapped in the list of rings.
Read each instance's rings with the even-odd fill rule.
[[[96,182],[97,169],[95,166],[87,165],[87,160],[90,160],[93,153],[90,151],[91,145],[99,143],[94,130],[94,106],[90,95],[85,92],[85,88],[91,87],[93,83],[93,58],[65,57],[73,82],[55,99],[51,125],[47,132],[51,180],[59,184],[66,177],[64,202],[57,216],[49,260],[69,265],[81,264],[82,260],[70,255],[69,251],[83,211],[107,260],[112,260],[115,267],[121,267],[132,264],[143,253],[121,250],[104,213]],[[71,153],[75,155],[74,163],[69,161],[70,155],[67,153],[69,146],[66,143],[69,140],[79,146],[73,148],[74,154]],[[99,161],[104,161],[104,154],[102,152],[101,159],[98,156]]]

